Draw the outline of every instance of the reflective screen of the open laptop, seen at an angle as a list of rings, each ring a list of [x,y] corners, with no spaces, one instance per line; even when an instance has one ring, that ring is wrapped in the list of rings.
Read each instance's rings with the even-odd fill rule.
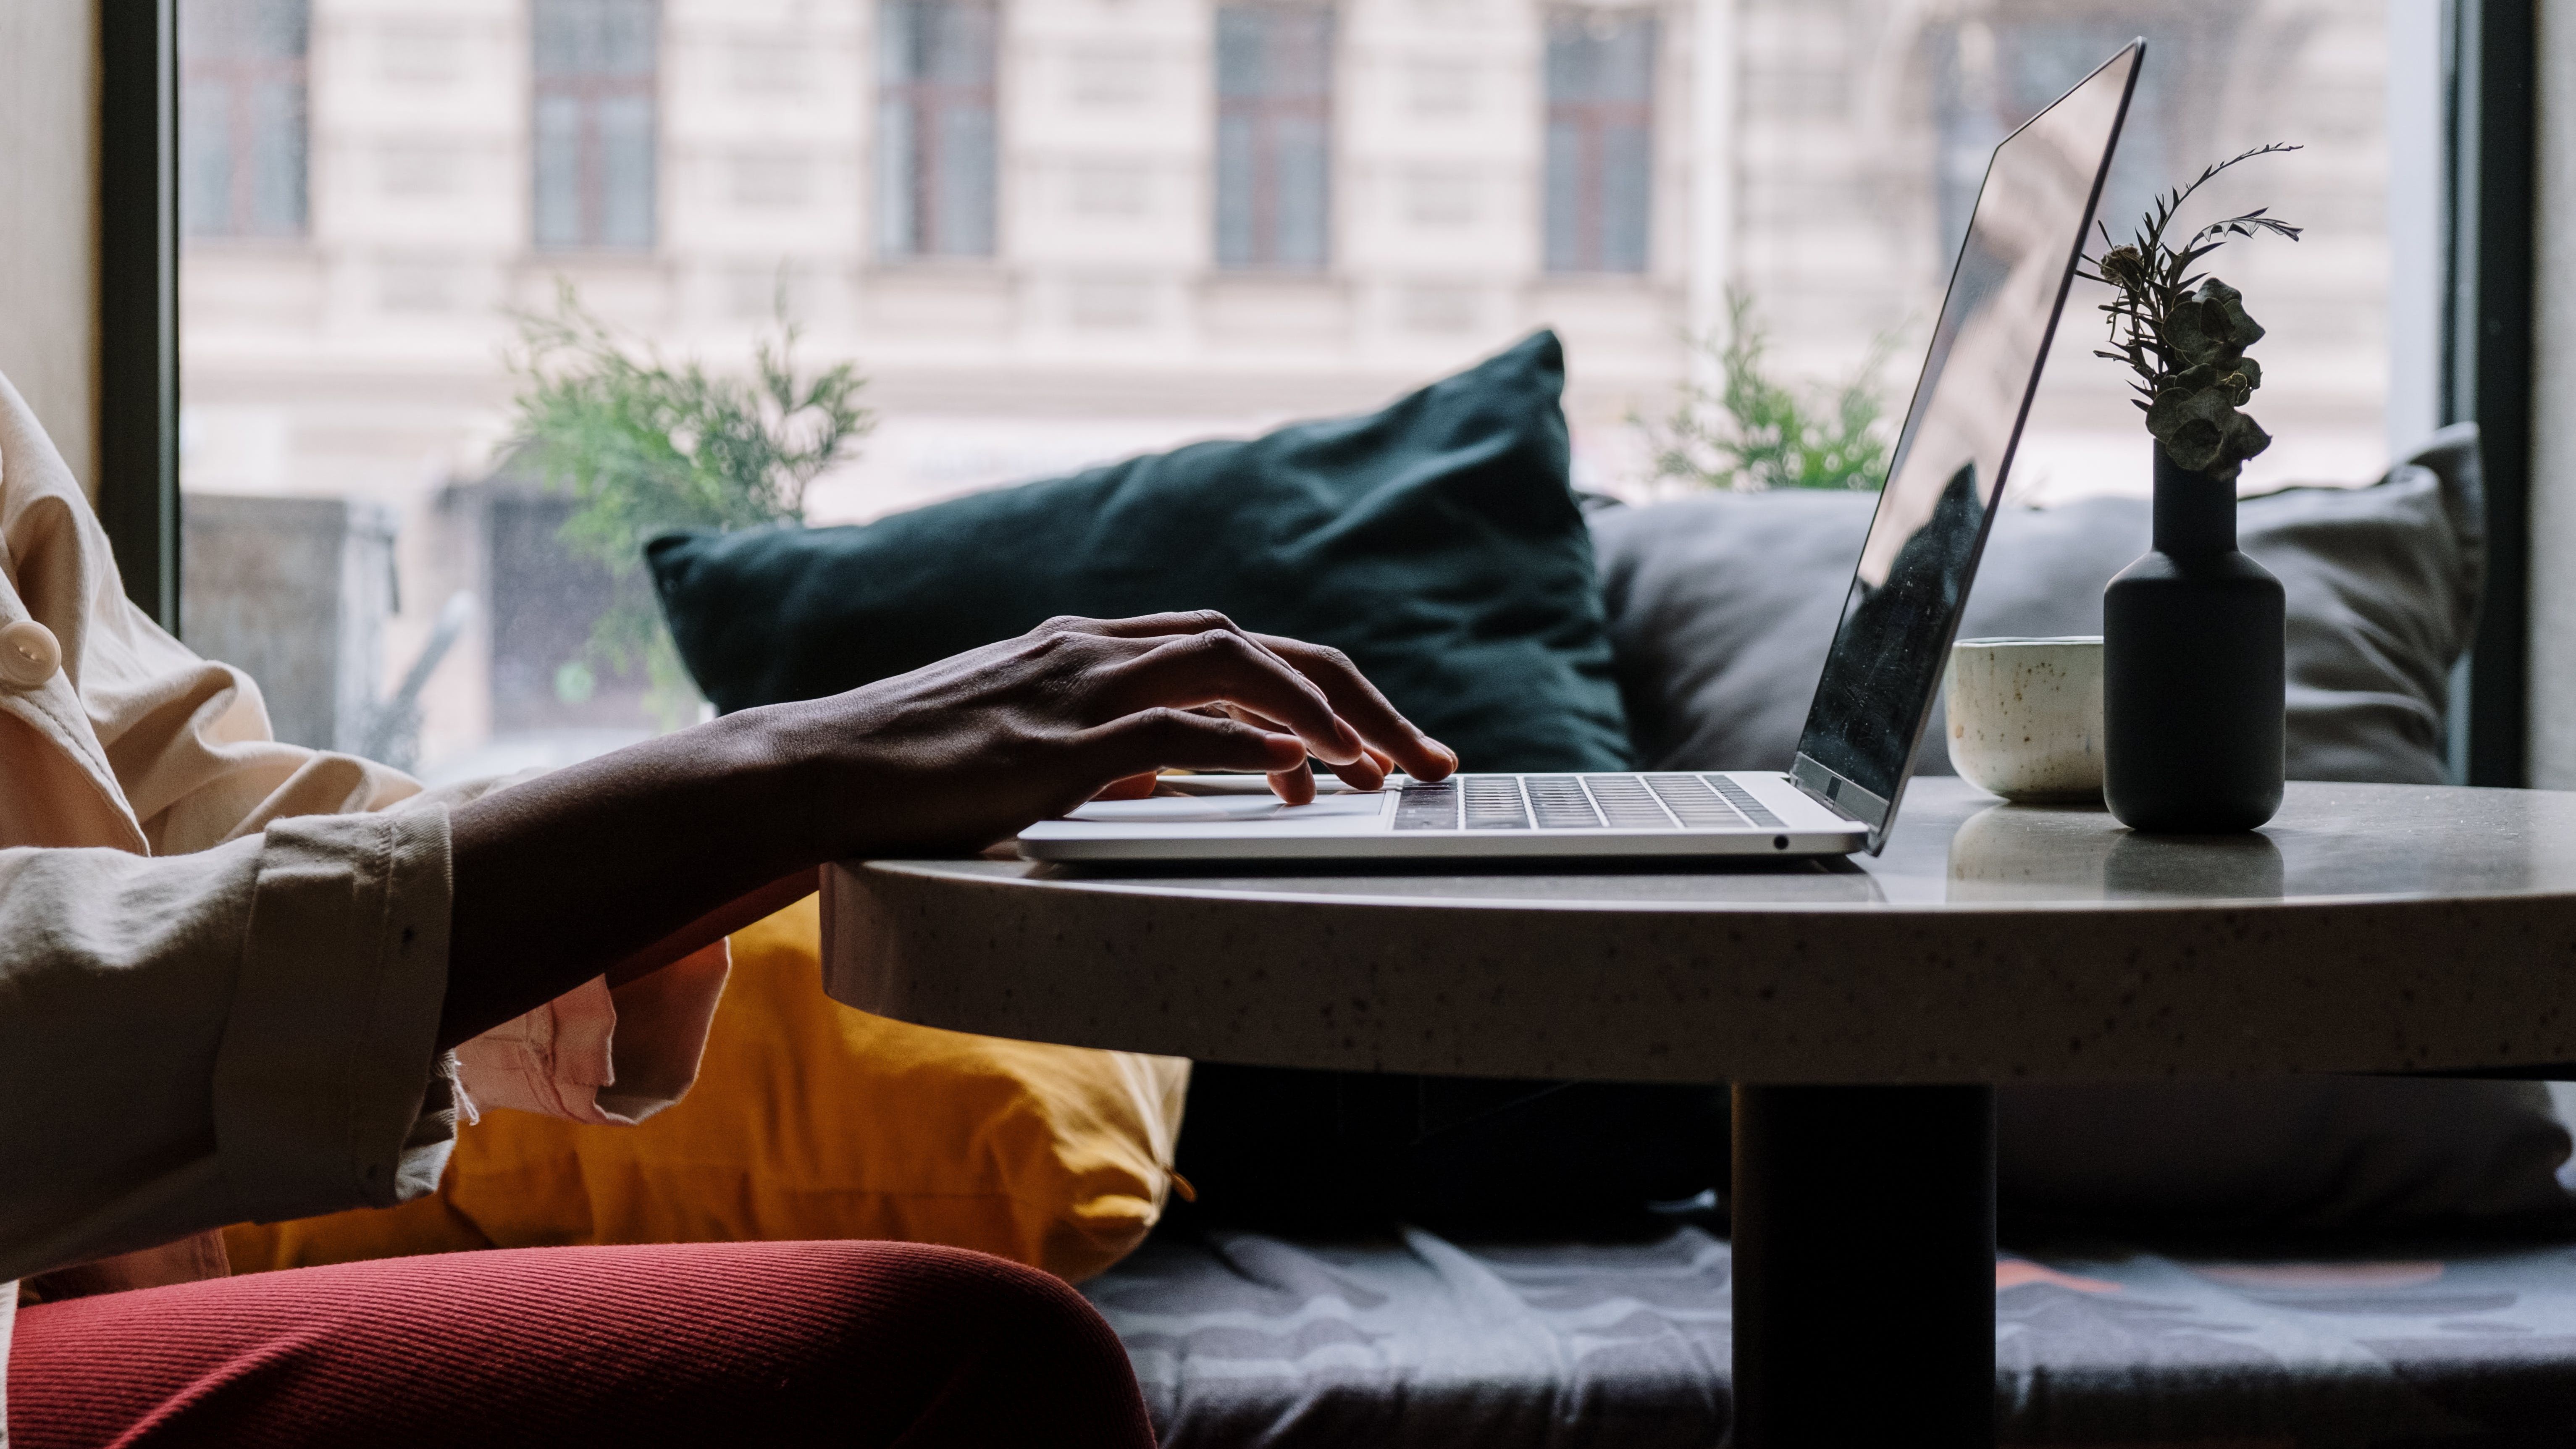
[[[2146,41],[1994,149],[1793,775],[1886,842]]]

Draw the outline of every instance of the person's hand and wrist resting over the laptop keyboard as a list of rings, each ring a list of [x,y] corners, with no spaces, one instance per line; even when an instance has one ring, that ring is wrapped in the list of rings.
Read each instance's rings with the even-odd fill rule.
[[[1054,618],[829,700],[734,715],[811,767],[824,857],[974,849],[1157,770],[1260,770],[1314,800],[1306,757],[1355,788],[1458,767],[1334,649],[1218,613]]]

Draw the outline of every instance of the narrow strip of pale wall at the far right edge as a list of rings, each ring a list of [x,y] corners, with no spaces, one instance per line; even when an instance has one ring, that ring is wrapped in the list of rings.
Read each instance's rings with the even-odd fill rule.
[[[2540,5],[2532,340],[2532,785],[2576,788],[2576,5]]]

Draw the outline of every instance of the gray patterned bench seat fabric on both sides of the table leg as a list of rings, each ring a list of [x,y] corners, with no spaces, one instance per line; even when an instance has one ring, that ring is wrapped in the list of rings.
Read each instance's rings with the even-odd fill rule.
[[[2576,1248],[2249,1264],[2092,1241],[1996,1264],[2004,1444],[2566,1446]],[[1157,1241],[1082,1284],[1167,1449],[1703,1449],[1728,1246]],[[1852,1323],[1880,1310],[1857,1292]],[[1850,1392],[1886,1392],[1844,1364]]]

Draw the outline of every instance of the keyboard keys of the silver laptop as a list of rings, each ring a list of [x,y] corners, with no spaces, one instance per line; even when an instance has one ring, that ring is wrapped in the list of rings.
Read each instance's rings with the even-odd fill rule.
[[[1399,831],[1777,829],[1780,816],[1723,775],[1461,775],[1409,782]]]

